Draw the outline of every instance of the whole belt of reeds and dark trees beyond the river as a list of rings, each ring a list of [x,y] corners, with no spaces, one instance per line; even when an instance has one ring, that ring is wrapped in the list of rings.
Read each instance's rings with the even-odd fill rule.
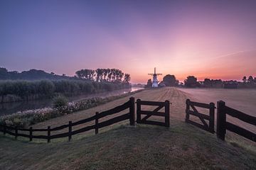
[[[0,102],[72,96],[130,88],[131,77],[119,69],[81,69],[74,77],[43,70],[8,72],[0,68]]]

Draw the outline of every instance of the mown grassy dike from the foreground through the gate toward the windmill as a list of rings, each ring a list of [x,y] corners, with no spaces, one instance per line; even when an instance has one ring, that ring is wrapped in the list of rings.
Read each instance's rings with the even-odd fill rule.
[[[193,94],[164,88],[133,96],[149,101],[169,100],[171,127],[129,127],[124,121],[100,129],[98,135],[91,131],[75,135],[71,142],[58,139],[49,144],[0,135],[0,169],[256,169],[255,143],[231,132],[227,142],[222,142],[216,135],[184,123],[186,98],[199,101]],[[88,118],[128,99],[38,123],[34,128]]]

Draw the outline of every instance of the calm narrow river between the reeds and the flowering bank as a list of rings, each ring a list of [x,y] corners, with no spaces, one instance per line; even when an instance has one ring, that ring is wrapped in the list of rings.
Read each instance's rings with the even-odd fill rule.
[[[132,91],[138,91],[144,88],[132,87],[132,89],[122,89],[117,91],[103,92],[98,94],[89,94],[89,95],[80,95],[68,97],[68,101],[77,101],[84,98],[93,98],[93,97],[110,97],[118,96],[121,94],[127,94]],[[36,101],[20,101],[20,102],[11,102],[11,103],[1,103],[0,104],[0,116],[9,115],[11,113],[16,113],[18,111],[26,111],[37,108],[46,108],[52,106],[52,99],[43,99]]]

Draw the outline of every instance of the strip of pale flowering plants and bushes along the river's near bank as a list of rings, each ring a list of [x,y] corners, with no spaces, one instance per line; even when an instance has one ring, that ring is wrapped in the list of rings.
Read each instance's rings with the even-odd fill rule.
[[[66,106],[61,106],[58,108],[41,108],[24,112],[19,111],[11,115],[1,116],[0,124],[8,125],[11,127],[26,128],[28,126],[41,123],[52,118],[58,118],[63,115],[68,115],[70,113],[75,113],[88,108],[99,106],[119,98],[124,98],[126,96],[136,94],[140,91],[143,91],[143,89],[119,96],[110,96],[105,98],[85,98],[82,100],[70,102]]]

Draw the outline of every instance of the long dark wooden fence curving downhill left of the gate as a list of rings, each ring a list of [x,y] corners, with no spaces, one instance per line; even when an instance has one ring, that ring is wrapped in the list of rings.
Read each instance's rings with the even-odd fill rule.
[[[104,118],[107,115],[112,115],[114,113],[119,113],[121,111],[126,110],[127,108],[129,108],[129,113],[126,113],[124,115],[119,115],[115,118],[112,118],[110,120],[105,120],[103,122],[100,122],[100,118]],[[114,123],[118,123],[122,120],[127,120],[129,119],[129,124],[130,125],[134,125],[135,124],[135,113],[134,113],[134,98],[129,98],[129,101],[127,101],[126,103],[122,104],[121,106],[117,106],[115,108],[110,109],[109,111],[104,111],[101,113],[96,113],[94,116],[90,117],[90,118],[86,118],[84,120],[79,120],[78,122],[73,123],[72,121],[70,121],[68,124],[66,125],[60,125],[58,127],[55,128],[50,128],[50,126],[48,126],[47,129],[33,129],[32,127],[29,129],[25,129],[25,128],[12,128],[6,125],[0,125],[0,131],[4,132],[4,135],[7,133],[9,135],[15,136],[15,138],[17,139],[17,137],[28,137],[30,141],[32,141],[33,139],[46,139],[48,142],[50,142],[50,140],[55,139],[55,138],[60,138],[60,137],[68,137],[68,140],[70,141],[72,136],[81,132],[86,132],[88,130],[92,130],[95,129],[95,134],[97,134],[99,132],[100,128],[106,127],[108,125],[112,125]],[[79,130],[72,130],[72,127],[75,125],[82,125],[84,123],[88,123],[90,121],[95,121],[94,125],[89,125],[86,126],[84,128],[80,128]],[[68,128],[68,132],[63,132],[57,135],[51,135],[50,132],[56,131],[56,130],[63,130],[64,128]],[[24,133],[20,133],[20,132],[29,132],[28,134],[24,134]],[[47,132],[47,135],[33,135],[33,132]]]

